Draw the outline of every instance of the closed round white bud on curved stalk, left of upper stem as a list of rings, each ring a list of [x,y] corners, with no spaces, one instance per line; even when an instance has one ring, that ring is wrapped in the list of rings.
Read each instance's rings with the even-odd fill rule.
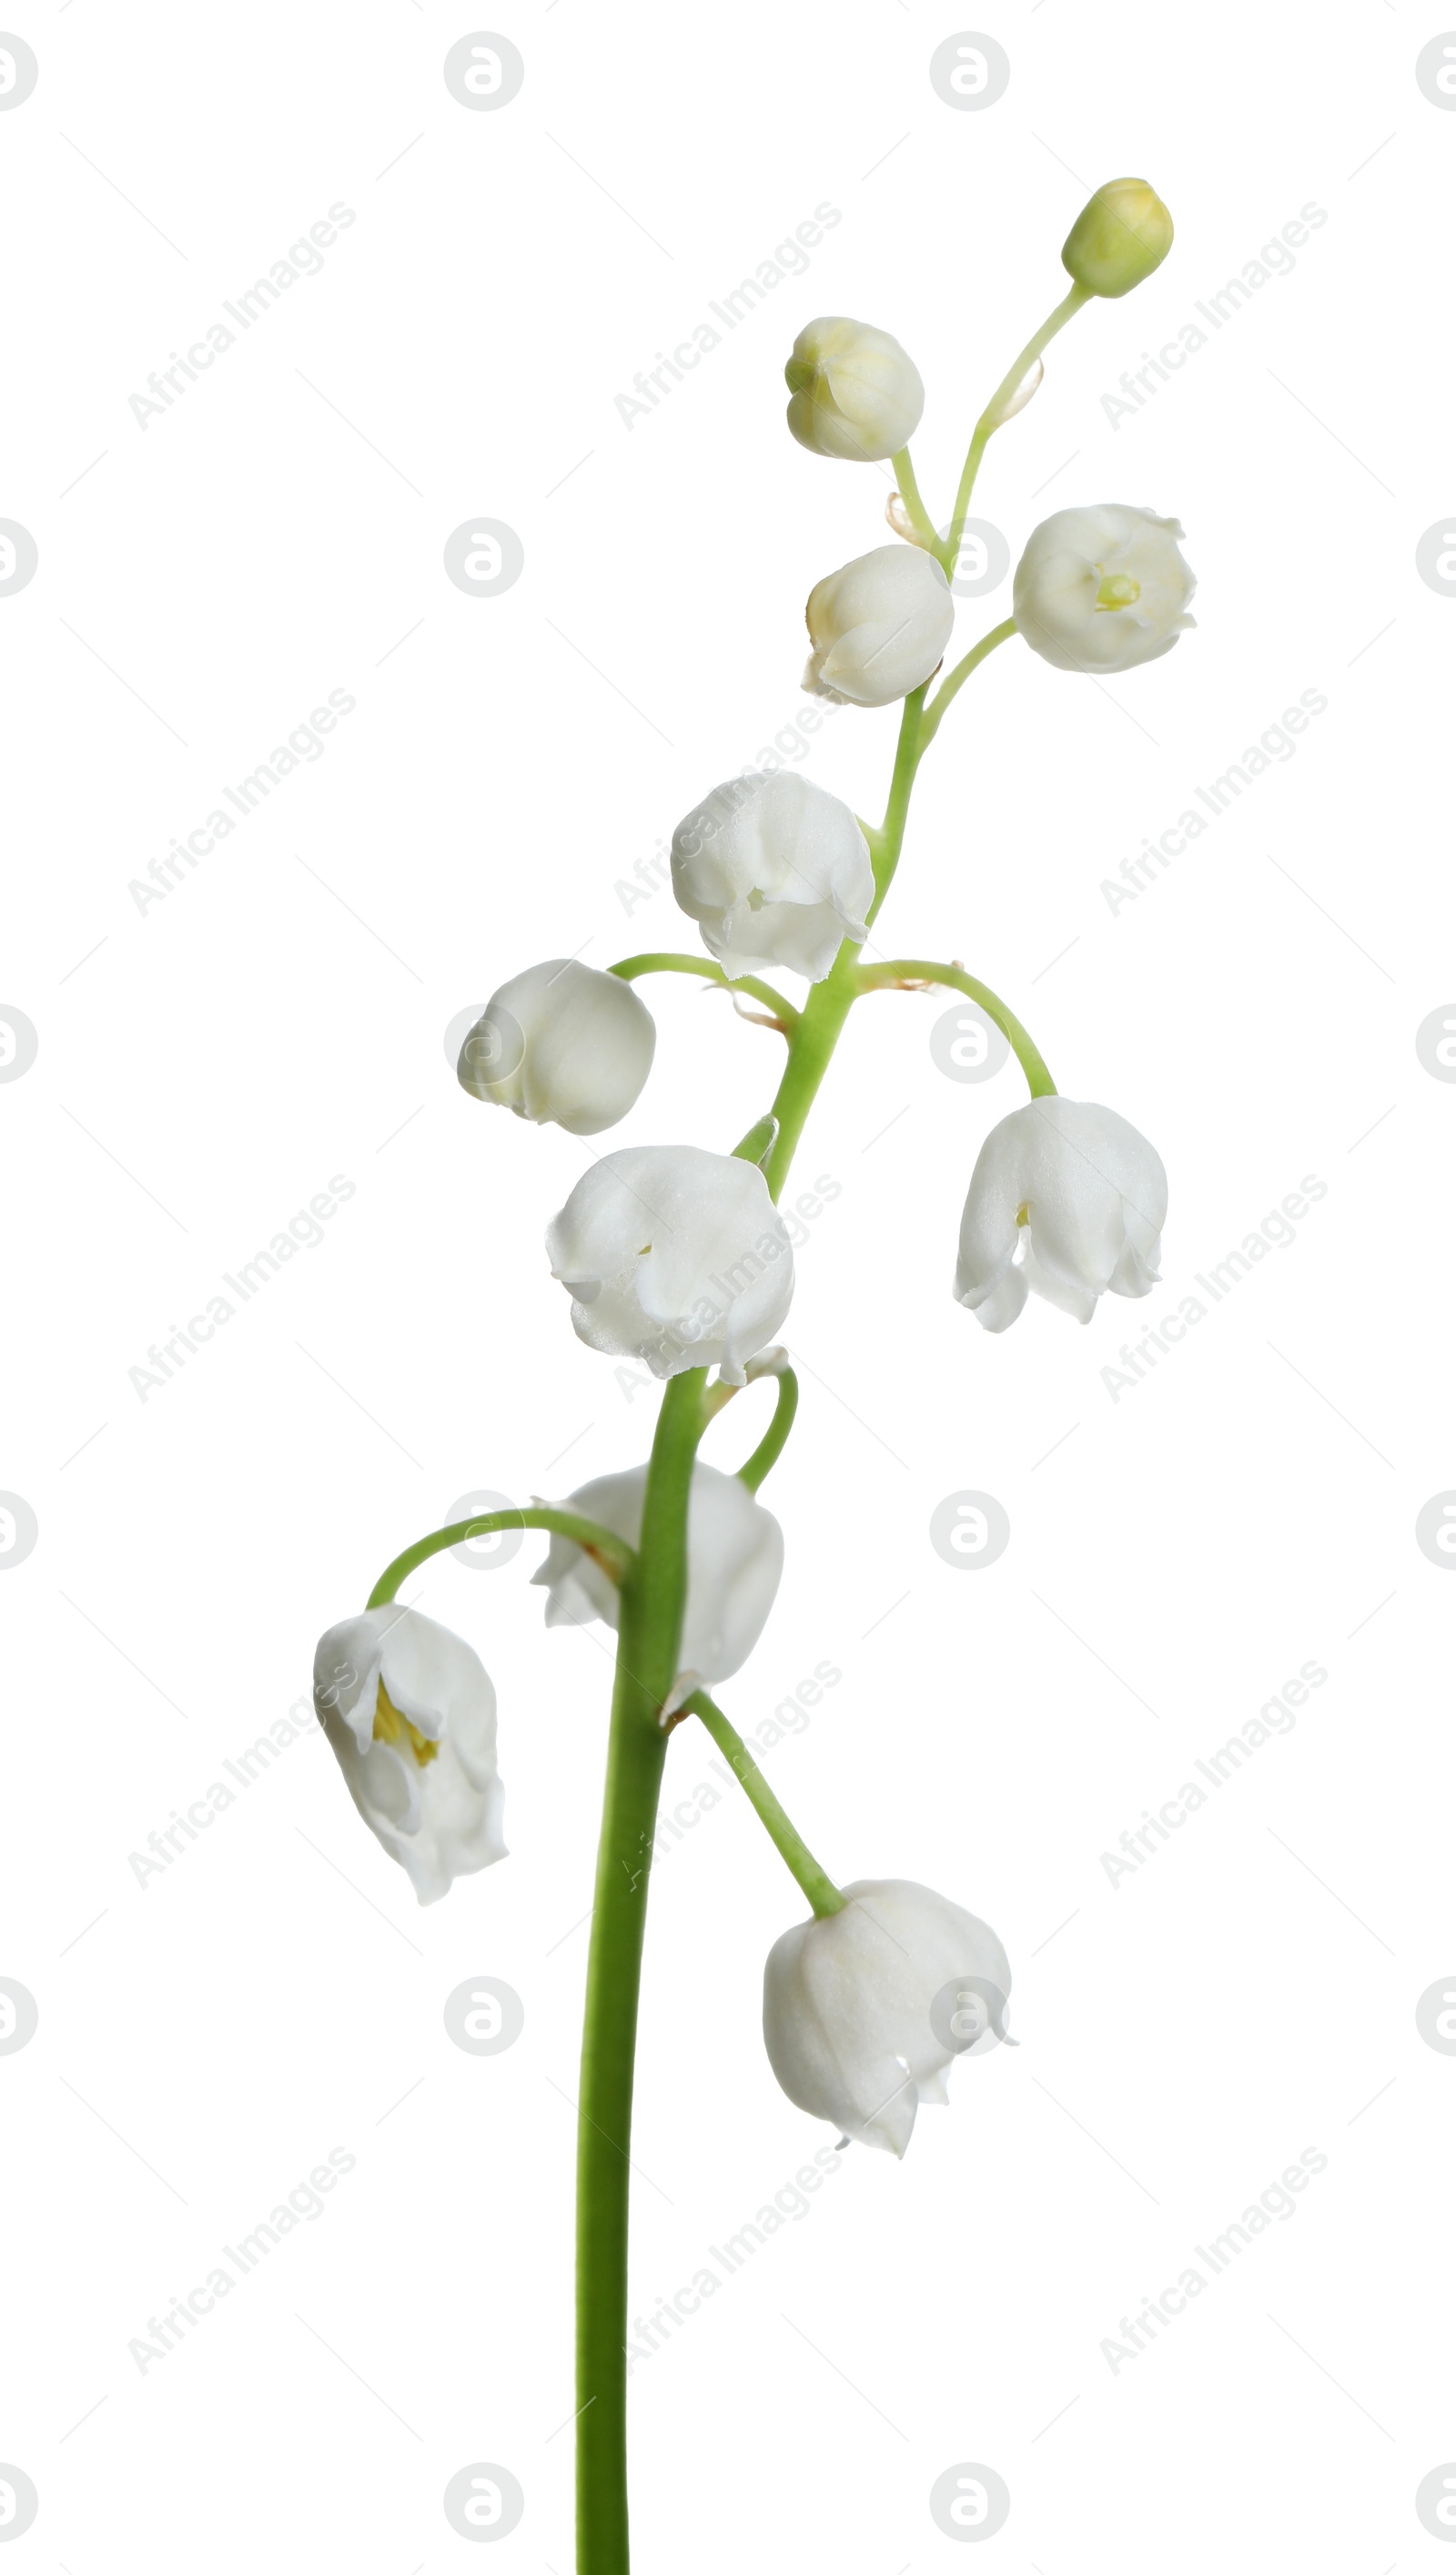
[[[623,976],[576,958],[527,966],[486,1002],[460,1048],[458,1079],[476,1100],[599,1136],[635,1105],[656,1027]]]

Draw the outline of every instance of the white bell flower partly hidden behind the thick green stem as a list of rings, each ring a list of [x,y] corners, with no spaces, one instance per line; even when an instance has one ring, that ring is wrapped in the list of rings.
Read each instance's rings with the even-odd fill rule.
[[[597,1519],[635,1548],[643,1527],[646,1465],[623,1475],[594,1475],[566,1509]],[[687,1607],[682,1612],[682,1676],[725,1681],[749,1661],[774,1607],[785,1571],[785,1532],[738,1475],[715,1465],[692,1468],[687,1499]],[[617,1586],[571,1537],[553,1537],[532,1576],[545,1584],[545,1625],[581,1627],[587,1620],[617,1625]],[[682,1697],[682,1687],[677,1692]]]

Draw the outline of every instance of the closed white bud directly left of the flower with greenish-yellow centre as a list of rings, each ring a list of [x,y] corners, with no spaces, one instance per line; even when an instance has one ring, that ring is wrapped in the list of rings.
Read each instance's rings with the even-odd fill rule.
[[[954,626],[949,582],[921,546],[875,546],[808,595],[803,688],[841,706],[890,706],[931,677]]]

